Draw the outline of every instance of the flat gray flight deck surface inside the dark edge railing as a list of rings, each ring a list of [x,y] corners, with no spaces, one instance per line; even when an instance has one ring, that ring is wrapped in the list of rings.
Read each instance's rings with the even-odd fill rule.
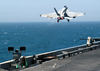
[[[65,59],[54,59],[19,71],[100,71],[100,49]]]

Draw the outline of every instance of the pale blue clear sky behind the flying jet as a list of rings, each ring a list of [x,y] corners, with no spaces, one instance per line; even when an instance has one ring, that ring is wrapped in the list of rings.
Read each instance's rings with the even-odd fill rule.
[[[100,0],[0,0],[0,22],[56,22],[40,17],[67,6],[71,12],[86,14],[71,21],[100,21]],[[66,20],[64,20],[66,21]]]

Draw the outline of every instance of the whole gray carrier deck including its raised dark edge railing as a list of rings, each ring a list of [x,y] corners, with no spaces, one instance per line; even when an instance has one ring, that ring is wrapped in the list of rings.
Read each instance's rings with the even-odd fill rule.
[[[55,55],[55,58],[44,61]],[[100,42],[27,56],[29,66],[16,69],[15,60],[0,63],[0,71],[100,71]],[[35,63],[34,58],[36,59]],[[40,62],[42,61],[42,62]],[[42,64],[41,64],[42,63]]]

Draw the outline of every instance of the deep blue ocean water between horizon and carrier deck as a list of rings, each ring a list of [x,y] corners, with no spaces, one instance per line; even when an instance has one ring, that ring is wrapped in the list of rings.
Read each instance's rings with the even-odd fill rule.
[[[100,37],[100,22],[5,22],[0,23],[0,63],[11,60],[8,47],[26,47],[24,56],[86,44]]]

